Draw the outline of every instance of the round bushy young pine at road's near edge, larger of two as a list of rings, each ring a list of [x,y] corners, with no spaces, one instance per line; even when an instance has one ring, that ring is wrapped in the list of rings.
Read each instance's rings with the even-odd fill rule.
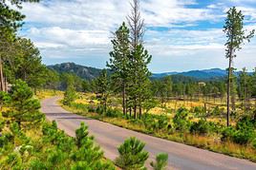
[[[136,138],[125,140],[117,149],[119,157],[116,160],[117,166],[124,170],[146,169],[145,161],[148,153],[144,151],[145,143],[139,142]]]

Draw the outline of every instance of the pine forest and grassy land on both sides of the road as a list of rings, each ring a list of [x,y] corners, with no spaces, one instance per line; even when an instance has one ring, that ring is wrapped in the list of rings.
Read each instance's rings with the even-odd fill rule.
[[[186,76],[154,78],[152,55],[139,1],[127,22],[113,33],[106,68],[96,77],[56,70],[42,63],[32,41],[20,37],[25,15],[18,9],[37,0],[0,0],[0,169],[145,169],[145,143],[128,138],[110,161],[81,123],[70,137],[40,111],[40,100],[62,96],[65,109],[105,123],[161,139],[256,161],[256,67],[237,70],[237,51],[254,36],[244,29],[244,15],[226,12],[226,77],[197,80]],[[125,20],[125,18],[124,18]],[[150,165],[163,170],[168,155]]]

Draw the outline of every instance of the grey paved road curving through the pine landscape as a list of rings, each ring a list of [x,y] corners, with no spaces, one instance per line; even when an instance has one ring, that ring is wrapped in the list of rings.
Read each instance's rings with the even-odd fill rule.
[[[47,118],[51,121],[55,120],[58,127],[70,136],[75,136],[75,129],[79,127],[81,122],[88,124],[90,134],[96,137],[96,142],[104,150],[105,157],[110,160],[115,160],[117,157],[117,146],[120,143],[128,137],[137,137],[139,140],[146,142],[145,149],[150,153],[149,161],[160,152],[169,154],[170,166],[168,169],[256,170],[256,163],[250,161],[224,156],[177,142],[161,140],[109,123],[86,119],[64,110],[56,104],[57,100],[58,98],[54,97],[42,102],[42,111]]]

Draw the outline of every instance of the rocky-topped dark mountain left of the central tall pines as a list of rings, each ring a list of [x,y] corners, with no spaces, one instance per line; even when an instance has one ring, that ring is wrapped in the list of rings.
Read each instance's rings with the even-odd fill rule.
[[[74,73],[78,77],[85,80],[93,80],[99,76],[101,69],[90,67],[90,66],[81,66],[76,65],[75,63],[63,63],[53,66],[48,66],[58,73]]]

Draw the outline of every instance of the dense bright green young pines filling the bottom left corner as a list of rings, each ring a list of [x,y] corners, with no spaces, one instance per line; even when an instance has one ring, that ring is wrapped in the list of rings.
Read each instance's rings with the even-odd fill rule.
[[[7,152],[6,159],[1,160],[0,156],[2,167],[4,169],[115,169],[112,162],[104,160],[103,152],[95,145],[94,139],[88,136],[88,128],[84,123],[81,123],[80,128],[76,130],[75,139],[58,130],[55,122],[44,123],[42,134],[42,138],[32,141],[26,137],[17,123],[12,123],[11,134],[6,133],[0,137],[0,151]]]

